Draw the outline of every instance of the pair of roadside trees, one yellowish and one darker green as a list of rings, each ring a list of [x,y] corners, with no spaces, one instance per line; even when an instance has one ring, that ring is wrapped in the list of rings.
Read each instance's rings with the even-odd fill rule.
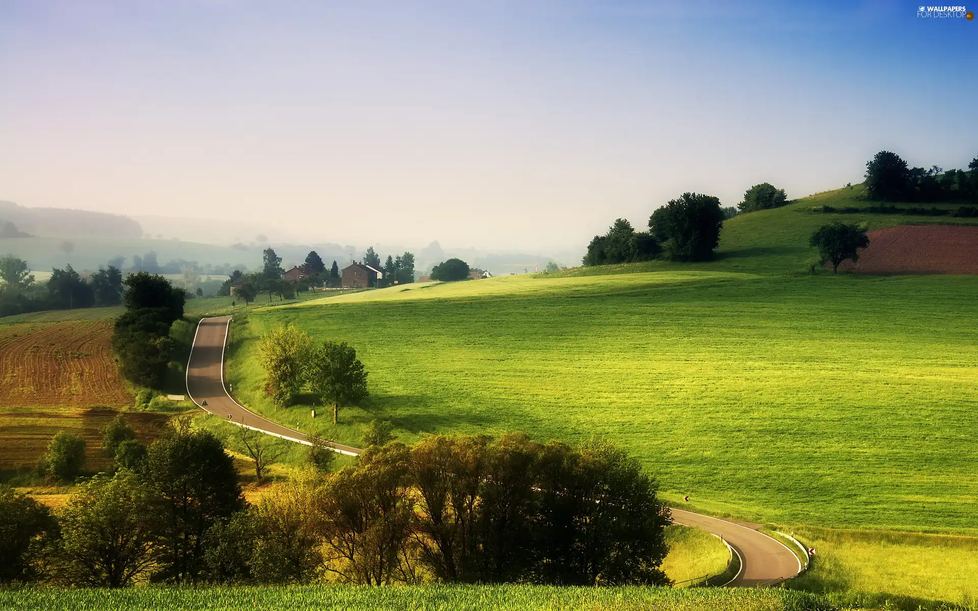
[[[308,333],[289,325],[272,329],[258,345],[267,373],[265,391],[276,405],[291,405],[307,389],[321,405],[333,405],[336,424],[339,408],[368,395],[367,371],[346,342],[324,341],[317,346]]]

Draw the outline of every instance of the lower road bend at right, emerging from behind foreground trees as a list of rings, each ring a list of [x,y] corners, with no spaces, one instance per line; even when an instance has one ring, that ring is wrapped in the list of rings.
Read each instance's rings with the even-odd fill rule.
[[[673,507],[673,522],[723,537],[740,556],[741,568],[727,586],[775,586],[801,573],[801,560],[778,540],[747,526]]]

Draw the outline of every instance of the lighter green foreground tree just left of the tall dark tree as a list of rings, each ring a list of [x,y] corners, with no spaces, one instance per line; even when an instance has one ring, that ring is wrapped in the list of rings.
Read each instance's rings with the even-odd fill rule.
[[[156,514],[134,473],[97,475],[71,497],[62,516],[64,572],[72,586],[124,588],[148,577]]]

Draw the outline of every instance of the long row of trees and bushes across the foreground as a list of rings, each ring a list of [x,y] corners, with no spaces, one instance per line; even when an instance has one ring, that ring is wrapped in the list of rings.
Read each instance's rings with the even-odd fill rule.
[[[0,583],[668,583],[669,509],[613,445],[374,432],[351,465],[297,470],[255,504],[221,442],[186,429],[58,512],[0,488]]]

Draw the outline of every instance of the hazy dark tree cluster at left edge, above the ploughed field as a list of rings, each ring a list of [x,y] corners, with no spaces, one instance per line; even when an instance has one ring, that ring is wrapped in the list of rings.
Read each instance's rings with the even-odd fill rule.
[[[26,261],[8,255],[0,259],[0,281],[0,316],[112,306],[122,301],[122,272],[112,265],[87,277],[70,265],[54,268],[51,278],[39,284]]]

